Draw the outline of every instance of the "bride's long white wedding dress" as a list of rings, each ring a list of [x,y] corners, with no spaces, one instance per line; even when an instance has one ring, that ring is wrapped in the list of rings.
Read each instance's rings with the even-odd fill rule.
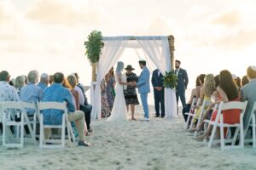
[[[113,109],[111,111],[111,116],[108,117],[107,121],[127,121],[128,113],[125,104],[124,88],[126,85],[119,84],[119,77],[116,76],[116,88],[115,88],[115,98],[113,101]],[[121,81],[126,82],[125,74],[121,75]]]

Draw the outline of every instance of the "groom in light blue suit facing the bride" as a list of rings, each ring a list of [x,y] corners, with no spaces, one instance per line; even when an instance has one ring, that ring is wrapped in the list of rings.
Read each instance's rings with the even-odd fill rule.
[[[149,121],[149,113],[148,113],[148,93],[150,93],[150,86],[149,86],[149,76],[150,72],[146,66],[145,60],[139,60],[139,65],[141,69],[143,69],[138,82],[134,82],[137,85],[138,93],[141,96],[141,100],[143,103],[143,110],[144,110],[144,120]]]

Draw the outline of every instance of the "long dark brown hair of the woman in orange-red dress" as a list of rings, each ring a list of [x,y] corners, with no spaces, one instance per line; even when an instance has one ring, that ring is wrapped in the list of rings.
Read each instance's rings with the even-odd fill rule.
[[[238,89],[230,71],[224,70],[219,73],[219,87],[224,90],[229,100],[238,97]]]

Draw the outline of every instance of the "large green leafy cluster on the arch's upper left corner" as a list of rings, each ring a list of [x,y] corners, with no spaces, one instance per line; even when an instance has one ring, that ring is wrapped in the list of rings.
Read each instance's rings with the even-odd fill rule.
[[[93,64],[99,61],[100,55],[102,54],[102,48],[104,46],[104,42],[102,42],[102,32],[92,31],[87,38],[88,41],[84,42],[86,48],[85,55],[87,55],[90,64]]]

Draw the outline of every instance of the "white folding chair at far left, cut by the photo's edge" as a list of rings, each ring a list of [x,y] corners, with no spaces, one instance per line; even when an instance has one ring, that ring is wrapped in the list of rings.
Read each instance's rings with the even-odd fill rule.
[[[35,136],[32,132],[31,123],[26,115],[26,111],[22,108],[20,105],[20,102],[1,102],[1,112],[3,114],[3,146],[7,147],[21,147],[24,146],[24,134],[25,134],[25,126],[28,127],[29,133],[31,134],[31,139],[34,144],[37,144],[37,141],[35,139]],[[15,116],[13,115],[13,111],[17,114],[17,116],[20,116],[20,122],[15,121]],[[10,127],[14,126],[19,131],[20,134],[14,137],[14,135],[11,133]],[[9,138],[9,139],[8,139]],[[19,139],[19,143],[13,143],[16,139]],[[8,141],[8,142],[7,142]]]

